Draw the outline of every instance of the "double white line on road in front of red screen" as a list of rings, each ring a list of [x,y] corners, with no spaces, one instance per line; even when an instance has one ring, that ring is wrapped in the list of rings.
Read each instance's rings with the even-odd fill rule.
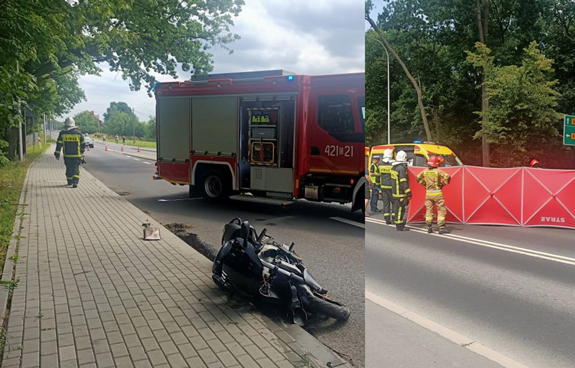
[[[382,220],[366,218],[366,221],[378,223],[379,225],[386,225],[385,221],[382,221]],[[388,225],[388,226],[394,226],[394,225]],[[409,227],[409,229],[415,230],[416,232],[419,232],[422,234],[426,234],[428,236],[438,236],[438,237],[447,238],[447,239],[451,239],[451,240],[461,241],[461,242],[464,242],[467,244],[481,245],[481,246],[485,246],[486,248],[499,249],[500,251],[517,253],[517,254],[524,255],[524,256],[530,256],[530,257],[545,259],[545,260],[554,261],[554,262],[558,262],[558,263],[575,265],[575,258],[572,258],[572,257],[555,255],[553,253],[545,253],[545,252],[535,251],[534,249],[520,248],[519,246],[501,244],[501,243],[497,243],[497,242],[481,240],[481,239],[477,239],[477,238],[470,238],[470,237],[465,237],[465,236],[456,235],[456,234],[436,234],[436,233],[427,234],[427,230],[420,229],[419,227],[414,227],[414,226],[407,226],[407,227]]]

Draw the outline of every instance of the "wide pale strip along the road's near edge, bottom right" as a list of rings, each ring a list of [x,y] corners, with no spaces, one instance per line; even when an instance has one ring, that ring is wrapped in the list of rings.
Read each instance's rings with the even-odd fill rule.
[[[421,327],[427,328],[430,331],[437,333],[440,336],[445,337],[447,340],[458,344],[459,346],[465,347],[478,355],[485,356],[485,358],[490,361],[499,363],[505,368],[527,368],[527,366],[522,363],[516,362],[513,359],[501,354],[500,352],[494,351],[480,343],[476,340],[470,339],[469,337],[461,335],[461,333],[455,332],[447,327],[444,327],[434,321],[428,320],[427,318],[420,316],[417,313],[411,312],[406,308],[403,308],[396,303],[388,301],[385,298],[380,297],[377,294],[371,293],[370,291],[365,291],[365,298],[375,304],[382,306],[385,309],[390,310],[393,313],[399,314],[400,316],[407,318],[420,325]]]

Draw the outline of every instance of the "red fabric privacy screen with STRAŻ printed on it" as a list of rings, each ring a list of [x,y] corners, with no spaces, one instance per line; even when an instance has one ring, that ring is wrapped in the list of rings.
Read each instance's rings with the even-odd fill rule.
[[[451,175],[443,188],[447,222],[575,228],[575,170],[532,168],[442,168]],[[413,198],[408,222],[425,221],[425,189],[409,168]]]

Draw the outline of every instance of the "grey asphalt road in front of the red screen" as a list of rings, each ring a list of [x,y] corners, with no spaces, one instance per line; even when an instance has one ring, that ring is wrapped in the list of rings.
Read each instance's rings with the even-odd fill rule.
[[[573,367],[574,239],[565,229],[455,226],[438,236],[368,222],[366,290],[523,365]]]

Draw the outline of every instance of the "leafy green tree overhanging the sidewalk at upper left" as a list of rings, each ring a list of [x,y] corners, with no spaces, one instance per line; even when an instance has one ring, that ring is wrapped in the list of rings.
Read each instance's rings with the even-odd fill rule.
[[[102,65],[148,93],[154,73],[177,77],[179,66],[192,74],[212,70],[209,50],[239,38],[229,28],[243,3],[0,1],[0,157],[15,150],[7,142],[15,142],[19,105],[70,111],[83,98],[77,76],[98,74]]]

